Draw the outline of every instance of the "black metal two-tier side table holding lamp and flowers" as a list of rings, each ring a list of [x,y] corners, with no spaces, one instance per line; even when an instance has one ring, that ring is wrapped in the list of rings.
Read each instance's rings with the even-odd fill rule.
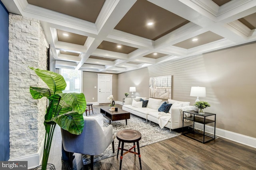
[[[189,116],[189,117],[184,117],[184,113],[190,113],[192,114],[192,116]],[[200,116],[200,117],[199,117]],[[208,116],[214,116],[214,120],[211,120],[211,119],[206,119],[206,117]],[[190,121],[193,121],[193,131],[188,131],[186,133],[184,133],[184,130],[183,130],[183,127],[184,127],[184,119],[187,119],[187,120],[190,120]],[[197,132],[195,131],[194,127],[195,127],[195,122],[197,123],[201,123],[204,125],[204,133],[200,133],[200,132]],[[207,136],[207,138],[210,138],[208,139],[207,141],[205,141],[205,125],[208,124],[208,123],[213,123],[214,122],[214,137],[209,137]],[[215,139],[215,129],[216,129],[216,114],[215,113],[208,113],[208,112],[204,112],[204,115],[201,115],[201,114],[198,114],[198,112],[194,111],[194,110],[188,110],[188,111],[183,111],[183,121],[182,121],[182,134],[186,137],[190,137],[192,139],[195,139],[196,141],[199,141],[199,142],[202,142],[202,143],[206,143],[206,142],[209,142],[209,141],[212,141]],[[194,135],[188,135],[188,134],[194,134],[194,133],[197,133],[199,135],[202,135],[202,140],[196,138]]]

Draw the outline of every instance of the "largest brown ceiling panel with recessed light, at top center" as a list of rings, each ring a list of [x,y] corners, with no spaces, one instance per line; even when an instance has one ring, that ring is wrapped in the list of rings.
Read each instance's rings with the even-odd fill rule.
[[[152,22],[153,25],[147,25],[148,22]],[[156,40],[188,22],[151,2],[138,0],[115,29]]]

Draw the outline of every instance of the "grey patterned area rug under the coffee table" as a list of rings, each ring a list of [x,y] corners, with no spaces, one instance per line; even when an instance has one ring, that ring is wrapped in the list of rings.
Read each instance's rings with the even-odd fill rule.
[[[142,137],[139,141],[140,147],[144,147],[146,145],[150,145],[156,142],[160,142],[166,139],[170,139],[172,137],[176,137],[180,135],[181,133],[177,133],[174,131],[170,131],[170,129],[164,127],[161,129],[158,124],[156,123],[149,123],[149,121],[146,123],[146,119],[142,119],[136,115],[130,116],[130,119],[127,119],[127,125],[125,123],[125,120],[120,121],[111,121],[111,124],[113,125],[113,129],[118,132],[122,129],[134,129],[141,133]],[[109,121],[104,118],[104,126],[107,127],[109,125]],[[125,143],[124,148],[131,147],[133,144],[131,143]],[[112,145],[110,144],[109,147],[100,155],[94,156],[94,162],[109,158],[111,156],[115,156],[117,154],[117,148],[118,148],[118,140],[114,140],[114,147],[115,147],[115,153],[112,152]],[[82,155],[83,164],[89,164],[90,163],[90,155]]]

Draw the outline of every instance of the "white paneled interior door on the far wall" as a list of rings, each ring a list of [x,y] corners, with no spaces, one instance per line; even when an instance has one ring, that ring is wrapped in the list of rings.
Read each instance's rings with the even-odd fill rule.
[[[112,95],[112,74],[98,74],[98,102],[110,103],[108,96]]]

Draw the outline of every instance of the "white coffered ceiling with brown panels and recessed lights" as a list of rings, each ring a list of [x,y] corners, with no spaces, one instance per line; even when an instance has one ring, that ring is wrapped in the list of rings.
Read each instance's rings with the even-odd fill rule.
[[[256,0],[1,1],[40,20],[56,68],[122,73],[256,41]]]

